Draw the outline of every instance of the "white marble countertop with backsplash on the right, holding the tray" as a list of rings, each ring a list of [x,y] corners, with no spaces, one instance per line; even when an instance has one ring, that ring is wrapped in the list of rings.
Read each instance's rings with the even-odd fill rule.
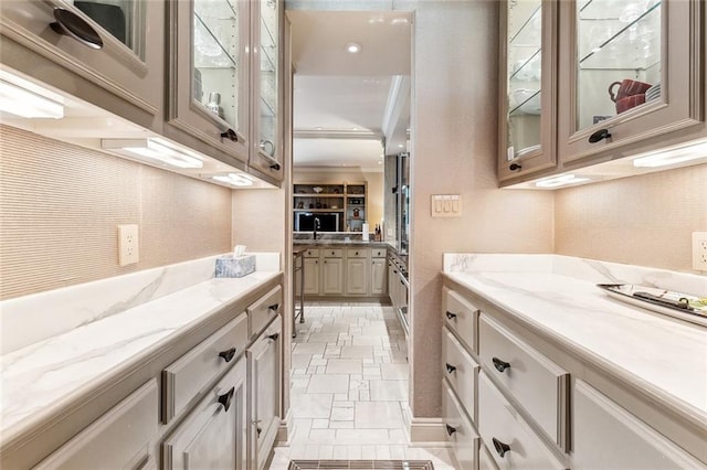
[[[623,279],[707,296],[707,277],[557,255],[503,256],[445,255],[444,274],[707,426],[707,328],[621,302],[595,286]]]

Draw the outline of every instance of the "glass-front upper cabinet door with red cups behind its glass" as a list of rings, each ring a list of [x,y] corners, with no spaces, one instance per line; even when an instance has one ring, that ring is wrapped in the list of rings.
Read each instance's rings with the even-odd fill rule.
[[[700,1],[560,2],[563,162],[698,124]]]

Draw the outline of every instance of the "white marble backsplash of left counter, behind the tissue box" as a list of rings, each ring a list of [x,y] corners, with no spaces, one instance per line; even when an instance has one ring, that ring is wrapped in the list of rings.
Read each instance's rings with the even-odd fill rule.
[[[256,253],[256,270],[279,270],[279,254]],[[120,313],[214,277],[218,255],[0,302],[0,355]]]

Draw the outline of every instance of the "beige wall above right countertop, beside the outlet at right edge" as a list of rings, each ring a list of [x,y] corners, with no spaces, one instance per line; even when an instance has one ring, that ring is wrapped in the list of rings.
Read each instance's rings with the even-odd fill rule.
[[[707,232],[707,164],[556,192],[560,255],[692,271],[693,232]]]

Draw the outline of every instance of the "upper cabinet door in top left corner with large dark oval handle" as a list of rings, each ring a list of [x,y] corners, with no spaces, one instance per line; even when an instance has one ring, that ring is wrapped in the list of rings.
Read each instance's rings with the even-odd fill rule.
[[[162,2],[3,0],[0,33],[0,61],[11,68],[147,127],[162,108]],[[61,68],[40,61],[51,61]],[[98,85],[120,102],[82,86],[62,70]],[[125,103],[131,106],[126,108]]]

